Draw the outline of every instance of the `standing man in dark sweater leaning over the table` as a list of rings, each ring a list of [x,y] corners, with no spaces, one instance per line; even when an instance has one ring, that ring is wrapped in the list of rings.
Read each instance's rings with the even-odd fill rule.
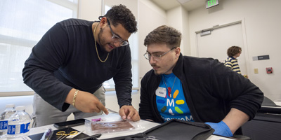
[[[69,19],[51,27],[34,46],[22,70],[34,92],[34,125],[108,113],[103,82],[113,77],[119,115],[140,120],[131,106],[131,50],[137,31],[126,6],[113,6],[99,22]]]

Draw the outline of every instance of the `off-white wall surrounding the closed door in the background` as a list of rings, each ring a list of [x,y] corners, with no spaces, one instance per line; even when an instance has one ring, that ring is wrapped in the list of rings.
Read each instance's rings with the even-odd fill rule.
[[[246,32],[244,46],[248,49],[249,79],[260,87],[266,97],[273,101],[281,99],[281,1],[224,0],[219,2],[219,5],[214,8],[202,7],[188,14],[191,55],[197,54],[195,31],[242,20],[242,24],[244,23],[242,26]],[[270,59],[252,60],[252,57],[259,55],[270,55]],[[273,67],[272,74],[266,73],[267,66]],[[254,73],[254,69],[259,69],[259,73]]]

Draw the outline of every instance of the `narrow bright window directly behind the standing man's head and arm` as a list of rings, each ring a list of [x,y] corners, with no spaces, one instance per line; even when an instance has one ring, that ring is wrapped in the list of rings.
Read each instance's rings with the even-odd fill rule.
[[[105,2],[105,6],[103,6],[103,15],[105,15],[105,13],[107,12],[107,10],[110,10],[110,8],[113,6],[113,5],[118,5],[117,3],[120,2],[120,1],[114,1],[115,3],[111,3],[113,1],[104,1]],[[130,3],[131,2],[131,3]],[[136,19],[137,18],[137,13],[134,13],[134,11],[132,10],[132,8],[130,7],[137,7],[135,5],[138,4],[138,1],[128,1],[128,3],[125,4],[125,6],[127,8],[129,8],[133,15],[135,15]],[[135,8],[136,10],[136,8]],[[136,10],[137,11],[137,10]],[[139,87],[138,87],[138,32],[134,33],[134,34],[131,34],[130,38],[129,38],[129,43],[130,43],[130,48],[131,48],[131,64],[132,64],[132,80],[133,80],[133,90],[138,90]],[[113,78],[111,78],[110,80],[107,80],[103,83],[103,86],[105,88],[107,88],[107,91],[108,90],[115,90],[115,83],[113,81]]]

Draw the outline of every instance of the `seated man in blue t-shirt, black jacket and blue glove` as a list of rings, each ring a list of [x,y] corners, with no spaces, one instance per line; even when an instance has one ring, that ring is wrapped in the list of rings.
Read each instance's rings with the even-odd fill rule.
[[[152,70],[141,80],[141,119],[207,123],[214,134],[232,137],[254,118],[263,92],[217,59],[181,54],[181,33],[160,26],[146,36],[145,58]]]

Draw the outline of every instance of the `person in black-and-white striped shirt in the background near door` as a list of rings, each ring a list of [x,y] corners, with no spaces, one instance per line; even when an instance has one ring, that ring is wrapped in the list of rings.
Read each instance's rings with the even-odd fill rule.
[[[238,59],[237,57],[240,57],[242,52],[242,49],[238,46],[231,46],[228,48],[228,58],[226,59],[226,62],[224,63],[225,66],[229,67],[233,71],[236,71],[237,73],[241,74],[240,67],[238,65]]]

